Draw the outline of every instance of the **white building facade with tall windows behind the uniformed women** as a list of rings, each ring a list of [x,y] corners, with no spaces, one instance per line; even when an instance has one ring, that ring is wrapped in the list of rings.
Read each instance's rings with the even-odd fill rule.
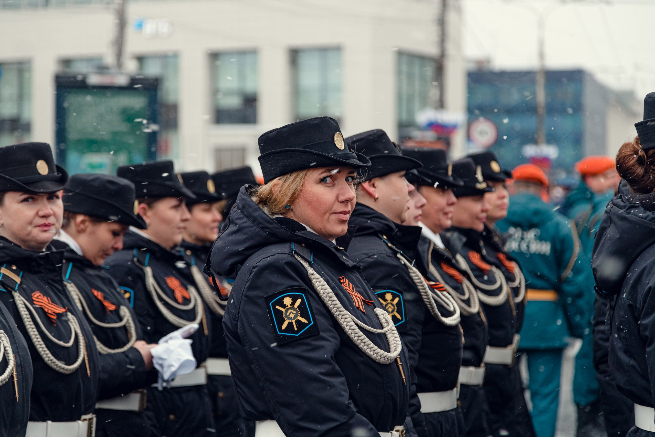
[[[54,144],[56,74],[113,64],[115,11],[71,1],[0,0],[0,145]],[[382,128],[398,140],[411,111],[430,104],[440,5],[130,1],[124,69],[160,77],[158,159],[180,170],[257,172],[259,135],[298,119],[329,115],[345,136]],[[449,5],[444,106],[466,111],[460,11]],[[464,150],[462,131],[453,155]]]

